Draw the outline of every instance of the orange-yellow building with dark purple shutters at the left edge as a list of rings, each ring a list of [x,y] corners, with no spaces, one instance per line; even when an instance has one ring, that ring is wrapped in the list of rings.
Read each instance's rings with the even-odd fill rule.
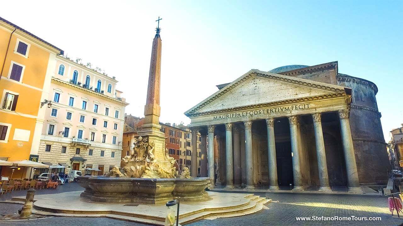
[[[63,50],[0,17],[0,159],[35,160],[56,55]],[[30,158],[30,154],[32,154]],[[13,178],[25,176],[16,171]],[[2,167],[9,176],[10,168]]]

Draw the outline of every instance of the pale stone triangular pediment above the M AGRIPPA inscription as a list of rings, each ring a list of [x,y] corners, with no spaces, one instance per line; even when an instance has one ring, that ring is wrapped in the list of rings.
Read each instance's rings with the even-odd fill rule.
[[[251,70],[185,115],[345,92],[345,87]]]

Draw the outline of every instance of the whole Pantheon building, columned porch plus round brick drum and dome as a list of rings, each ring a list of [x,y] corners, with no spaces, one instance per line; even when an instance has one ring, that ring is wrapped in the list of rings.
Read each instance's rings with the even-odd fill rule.
[[[208,148],[202,145],[202,176],[214,178],[214,185],[250,189],[345,186],[360,192],[386,184],[378,88],[338,68],[329,62],[250,70],[218,85],[185,112],[193,135],[209,140]],[[197,175],[196,154],[191,175]]]

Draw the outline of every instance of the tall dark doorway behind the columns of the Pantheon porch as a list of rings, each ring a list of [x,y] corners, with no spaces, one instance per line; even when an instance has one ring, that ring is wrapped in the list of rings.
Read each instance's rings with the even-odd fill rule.
[[[276,142],[278,185],[294,184],[293,160],[291,158],[291,143]]]

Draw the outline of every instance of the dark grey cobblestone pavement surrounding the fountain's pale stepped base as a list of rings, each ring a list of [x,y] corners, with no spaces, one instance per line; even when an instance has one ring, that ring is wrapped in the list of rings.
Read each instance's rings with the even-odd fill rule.
[[[76,183],[62,185],[58,189],[39,190],[37,194],[58,193],[66,191],[83,190]],[[14,191],[12,196],[25,195],[26,191]],[[272,203],[266,204],[268,210],[262,210],[256,214],[234,218],[217,218],[215,220],[200,220],[187,224],[188,226],[234,226],[234,225],[320,225],[320,226],[396,226],[403,225],[402,219],[392,218],[386,197],[370,195],[322,195],[322,194],[296,194],[296,193],[255,193],[272,199]],[[7,195],[8,196],[8,195]],[[10,199],[11,195],[3,195],[0,199]],[[277,202],[278,201],[278,202]],[[0,215],[13,214],[22,205],[0,203]],[[297,221],[295,217],[380,217],[381,221]],[[1,216],[0,216],[1,220]],[[145,226],[135,222],[127,222],[110,218],[71,218],[52,217],[26,221],[3,221],[4,226],[89,226],[89,225],[131,225]]]

